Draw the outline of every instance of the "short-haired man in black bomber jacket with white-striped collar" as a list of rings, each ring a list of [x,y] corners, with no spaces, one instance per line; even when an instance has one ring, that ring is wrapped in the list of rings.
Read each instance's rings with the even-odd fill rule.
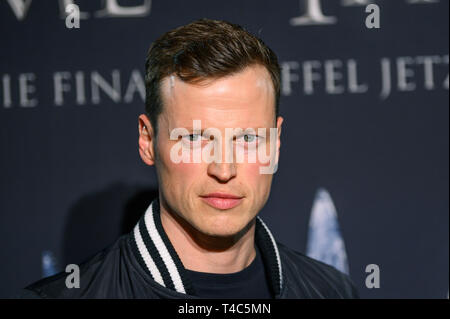
[[[139,154],[155,165],[158,198],[130,234],[80,266],[79,288],[60,273],[24,296],[357,297],[346,275],[277,243],[257,216],[283,123],[272,50],[237,25],[202,19],[152,44],[145,81]]]

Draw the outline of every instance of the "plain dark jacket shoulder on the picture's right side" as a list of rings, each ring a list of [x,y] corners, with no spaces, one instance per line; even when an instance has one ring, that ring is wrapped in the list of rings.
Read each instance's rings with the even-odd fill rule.
[[[286,285],[305,298],[359,298],[350,277],[277,242]]]

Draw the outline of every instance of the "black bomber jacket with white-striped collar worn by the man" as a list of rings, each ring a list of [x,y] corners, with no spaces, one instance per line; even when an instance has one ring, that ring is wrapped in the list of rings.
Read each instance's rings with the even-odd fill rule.
[[[256,217],[261,251],[275,299],[359,298],[350,278],[275,241]],[[80,287],[68,288],[61,272],[24,288],[20,298],[199,298],[161,224],[155,199],[129,234],[80,265]]]

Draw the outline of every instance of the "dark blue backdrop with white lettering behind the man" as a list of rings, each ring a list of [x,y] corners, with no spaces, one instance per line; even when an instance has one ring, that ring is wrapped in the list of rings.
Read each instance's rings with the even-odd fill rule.
[[[79,29],[64,1],[0,2],[0,297],[103,248],[148,205],[145,55],[203,17],[243,25],[283,67],[280,167],[261,213],[275,237],[305,252],[324,188],[362,297],[447,297],[448,1],[375,1],[380,29],[364,0],[75,2]]]

